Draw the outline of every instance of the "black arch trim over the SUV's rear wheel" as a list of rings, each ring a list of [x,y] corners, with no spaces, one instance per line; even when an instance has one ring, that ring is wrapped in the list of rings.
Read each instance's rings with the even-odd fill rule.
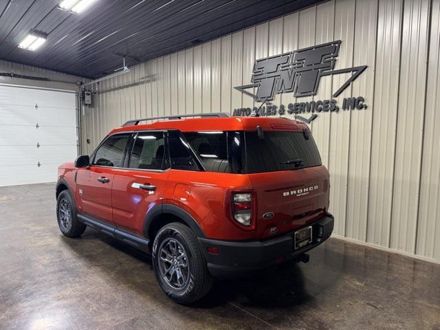
[[[173,214],[176,217],[179,217],[186,225],[191,228],[192,232],[195,233],[196,236],[205,237],[203,230],[201,230],[199,223],[195,221],[191,214],[186,212],[186,210],[179,208],[179,206],[175,206],[173,204],[159,204],[151,208],[145,216],[144,220],[144,236],[146,239],[151,239],[148,234],[148,230],[151,228],[151,225],[155,221],[155,219],[162,214]]]

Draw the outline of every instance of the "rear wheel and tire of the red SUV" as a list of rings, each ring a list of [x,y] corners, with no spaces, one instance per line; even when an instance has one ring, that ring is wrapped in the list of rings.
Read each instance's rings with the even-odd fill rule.
[[[157,282],[175,303],[188,305],[210,291],[212,276],[195,234],[186,225],[175,222],[161,228],[152,256]]]

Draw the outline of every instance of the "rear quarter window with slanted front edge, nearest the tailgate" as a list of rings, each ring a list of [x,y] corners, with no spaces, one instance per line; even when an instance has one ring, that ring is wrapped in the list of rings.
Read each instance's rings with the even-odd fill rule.
[[[228,137],[223,131],[184,133],[206,170],[230,173],[228,162]]]

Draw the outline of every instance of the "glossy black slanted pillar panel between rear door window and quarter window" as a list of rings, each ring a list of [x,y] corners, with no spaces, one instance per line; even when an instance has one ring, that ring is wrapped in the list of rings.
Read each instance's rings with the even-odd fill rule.
[[[201,170],[190,146],[179,131],[168,131],[171,167],[177,170]]]

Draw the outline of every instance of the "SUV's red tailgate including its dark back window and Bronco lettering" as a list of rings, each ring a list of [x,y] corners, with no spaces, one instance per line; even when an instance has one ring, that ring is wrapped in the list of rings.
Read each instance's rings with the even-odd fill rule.
[[[322,217],[329,173],[310,132],[245,131],[246,168],[256,191],[258,236],[295,230]]]

